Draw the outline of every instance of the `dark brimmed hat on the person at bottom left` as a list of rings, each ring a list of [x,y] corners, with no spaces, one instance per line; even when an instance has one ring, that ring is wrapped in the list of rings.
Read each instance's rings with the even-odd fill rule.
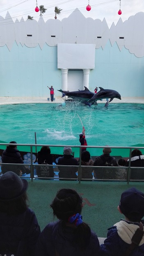
[[[13,171],[7,171],[0,177],[0,201],[14,200],[27,190],[28,183]]]

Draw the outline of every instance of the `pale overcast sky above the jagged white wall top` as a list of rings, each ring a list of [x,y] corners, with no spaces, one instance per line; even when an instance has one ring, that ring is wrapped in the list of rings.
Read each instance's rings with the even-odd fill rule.
[[[57,6],[62,9],[61,14],[57,15],[60,21],[63,18],[67,18],[78,8],[86,18],[98,18],[101,21],[105,18],[109,28],[113,22],[116,25],[119,18],[124,22],[137,12],[144,12],[144,0],[0,0],[0,16],[5,18],[7,11],[9,11],[13,21],[16,18],[20,21],[22,17],[26,20],[28,15],[33,16],[38,21],[40,12],[34,11],[36,3],[38,7],[39,5],[44,5],[47,9],[46,13],[43,14],[45,22],[48,19],[54,19],[54,10],[55,6]],[[90,11],[86,10],[88,3],[91,6]],[[120,3],[121,15],[118,14]]]

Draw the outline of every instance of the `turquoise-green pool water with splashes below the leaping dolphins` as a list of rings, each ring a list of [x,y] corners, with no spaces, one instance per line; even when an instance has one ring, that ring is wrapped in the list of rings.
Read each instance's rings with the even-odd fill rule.
[[[37,144],[80,145],[81,119],[89,146],[144,146],[144,105],[109,103],[108,108],[104,105],[89,107],[73,102],[0,105],[0,141],[35,144],[36,133]],[[52,151],[55,153],[57,149]],[[102,149],[89,151],[99,155]],[[60,148],[59,153],[62,152]],[[120,153],[115,151],[115,155]]]

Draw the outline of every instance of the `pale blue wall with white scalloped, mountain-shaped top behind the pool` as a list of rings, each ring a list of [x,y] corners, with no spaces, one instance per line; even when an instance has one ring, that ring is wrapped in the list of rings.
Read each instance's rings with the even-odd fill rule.
[[[46,23],[42,16],[38,22],[13,22],[9,12],[0,16],[0,96],[47,97],[47,85],[52,84],[55,96],[61,96],[57,43],[96,45],[91,91],[97,85],[116,89],[121,96],[144,97],[144,13],[124,23],[120,18],[109,29],[105,19],[85,18],[78,9],[62,21]]]

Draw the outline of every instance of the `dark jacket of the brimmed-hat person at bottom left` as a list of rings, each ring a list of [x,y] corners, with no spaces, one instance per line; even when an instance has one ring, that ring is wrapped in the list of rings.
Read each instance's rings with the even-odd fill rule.
[[[0,254],[7,248],[16,256],[35,256],[39,234],[37,218],[30,208],[19,215],[0,213]]]

